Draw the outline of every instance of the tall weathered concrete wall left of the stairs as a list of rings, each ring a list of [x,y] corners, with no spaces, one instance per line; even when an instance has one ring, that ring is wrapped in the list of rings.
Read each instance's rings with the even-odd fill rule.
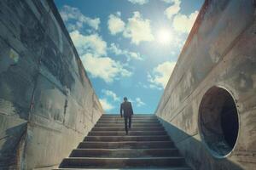
[[[60,163],[102,115],[52,0],[0,1],[0,168]]]

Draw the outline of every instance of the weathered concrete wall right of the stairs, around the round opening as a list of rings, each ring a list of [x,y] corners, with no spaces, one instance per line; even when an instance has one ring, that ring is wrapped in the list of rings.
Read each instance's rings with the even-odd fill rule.
[[[255,1],[205,2],[155,111],[196,170],[256,167],[255,44]],[[213,86],[230,92],[239,115],[235,149],[225,158],[210,154],[199,130],[201,99]]]

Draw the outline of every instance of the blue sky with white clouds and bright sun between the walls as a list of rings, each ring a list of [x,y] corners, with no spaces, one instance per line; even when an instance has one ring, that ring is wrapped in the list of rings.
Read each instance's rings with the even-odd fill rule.
[[[203,0],[55,0],[106,113],[152,114]]]

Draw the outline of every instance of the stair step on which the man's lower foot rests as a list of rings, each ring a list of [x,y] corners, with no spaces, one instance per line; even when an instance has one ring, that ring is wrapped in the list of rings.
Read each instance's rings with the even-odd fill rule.
[[[91,131],[88,136],[121,136],[125,131]],[[166,131],[131,131],[131,136],[154,136],[154,135],[166,135]]]

